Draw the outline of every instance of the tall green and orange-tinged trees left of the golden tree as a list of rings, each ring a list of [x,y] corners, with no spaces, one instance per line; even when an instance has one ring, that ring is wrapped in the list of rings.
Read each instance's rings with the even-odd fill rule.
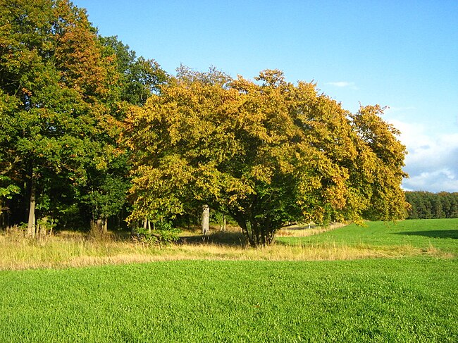
[[[0,0],[0,203],[16,222],[109,218],[125,204],[121,120],[166,74],[67,0]],[[28,211],[28,216],[26,214]]]

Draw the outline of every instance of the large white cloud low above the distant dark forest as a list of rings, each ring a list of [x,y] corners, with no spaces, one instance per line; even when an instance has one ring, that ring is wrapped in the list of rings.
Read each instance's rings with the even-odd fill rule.
[[[458,134],[433,135],[419,123],[390,120],[407,146],[403,187],[429,192],[458,192]]]

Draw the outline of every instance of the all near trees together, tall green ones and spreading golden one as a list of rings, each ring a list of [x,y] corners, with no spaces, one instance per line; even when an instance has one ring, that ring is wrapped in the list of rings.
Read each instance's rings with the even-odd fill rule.
[[[68,0],[0,0],[0,20],[3,225],[182,225],[210,206],[256,247],[290,221],[406,216],[380,106],[349,113],[280,70],[170,75]]]

